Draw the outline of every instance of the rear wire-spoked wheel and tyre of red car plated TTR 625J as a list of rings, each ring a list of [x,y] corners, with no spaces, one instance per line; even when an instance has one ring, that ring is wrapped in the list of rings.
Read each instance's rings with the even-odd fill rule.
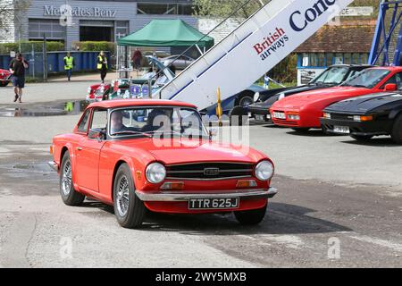
[[[74,189],[72,181],[72,164],[69,152],[65,152],[60,168],[60,195],[67,206],[82,205],[85,196]]]

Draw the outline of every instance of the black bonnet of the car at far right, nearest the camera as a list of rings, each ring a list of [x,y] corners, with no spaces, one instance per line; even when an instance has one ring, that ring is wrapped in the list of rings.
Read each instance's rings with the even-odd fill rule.
[[[325,111],[361,114],[368,113],[381,105],[388,105],[397,102],[402,104],[402,94],[387,92],[342,100],[328,106]]]

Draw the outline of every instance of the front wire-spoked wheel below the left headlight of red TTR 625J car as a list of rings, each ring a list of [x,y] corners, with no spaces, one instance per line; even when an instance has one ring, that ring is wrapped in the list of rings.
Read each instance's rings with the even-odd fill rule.
[[[135,193],[134,181],[127,164],[121,164],[113,183],[113,206],[117,222],[124,228],[138,228],[144,222],[146,206]]]

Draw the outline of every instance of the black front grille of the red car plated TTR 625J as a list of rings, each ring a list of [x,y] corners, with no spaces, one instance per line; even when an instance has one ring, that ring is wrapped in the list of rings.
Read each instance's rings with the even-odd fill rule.
[[[219,170],[219,171],[218,171]],[[166,179],[222,180],[253,176],[254,164],[196,163],[166,166]]]

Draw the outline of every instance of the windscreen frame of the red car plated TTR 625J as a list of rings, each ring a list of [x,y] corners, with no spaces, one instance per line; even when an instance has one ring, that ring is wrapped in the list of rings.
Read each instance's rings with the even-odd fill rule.
[[[203,122],[202,116],[201,114],[199,114],[199,112],[197,111],[197,108],[193,108],[190,106],[178,106],[178,105],[129,105],[129,106],[119,106],[119,107],[113,107],[113,108],[109,108],[108,109],[108,114],[107,114],[107,128],[106,128],[106,134],[107,134],[107,138],[108,139],[141,139],[141,138],[152,138],[154,134],[158,133],[158,134],[169,134],[171,138],[173,138],[174,136],[178,136],[180,135],[180,138],[183,137],[187,137],[187,135],[185,133],[179,133],[175,130],[171,130],[171,132],[157,132],[157,131],[138,131],[138,134],[134,134],[134,131],[132,134],[127,134],[127,135],[113,135],[111,133],[111,117],[113,112],[116,111],[125,111],[125,110],[146,110],[146,109],[172,109],[174,112],[174,109],[180,109],[181,110],[187,110],[187,111],[191,111],[194,112],[194,114],[197,114],[197,119],[200,123],[200,134],[198,136],[196,136],[196,138],[199,139],[205,139],[208,138],[209,139],[209,132],[206,129],[206,126]],[[171,123],[171,127],[172,127],[172,123]],[[181,121],[180,121],[180,130],[181,130],[182,126],[181,126]]]

